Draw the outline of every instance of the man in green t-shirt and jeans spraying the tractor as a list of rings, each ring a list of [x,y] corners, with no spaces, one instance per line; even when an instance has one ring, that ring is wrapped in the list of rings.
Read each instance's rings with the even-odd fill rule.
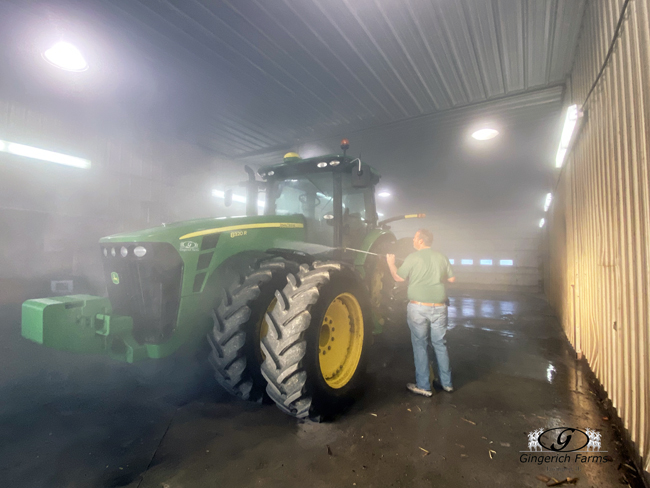
[[[454,391],[445,342],[447,332],[445,282],[453,283],[455,278],[449,259],[431,249],[431,244],[433,244],[433,234],[426,229],[420,229],[413,237],[413,247],[417,252],[409,254],[399,269],[395,266],[395,255],[386,256],[393,279],[408,280],[409,304],[406,320],[411,329],[416,384],[409,383],[406,387],[413,393],[426,397],[432,395],[427,352],[429,334],[438,360],[440,383],[445,391]]]

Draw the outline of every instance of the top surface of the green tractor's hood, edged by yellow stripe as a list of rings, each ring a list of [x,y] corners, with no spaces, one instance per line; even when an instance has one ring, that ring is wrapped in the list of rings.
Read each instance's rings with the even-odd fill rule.
[[[117,242],[170,242],[177,247],[180,242],[223,232],[258,229],[302,229],[301,215],[259,215],[254,217],[217,217],[185,220],[163,224],[150,229],[115,234],[100,239],[101,244]]]

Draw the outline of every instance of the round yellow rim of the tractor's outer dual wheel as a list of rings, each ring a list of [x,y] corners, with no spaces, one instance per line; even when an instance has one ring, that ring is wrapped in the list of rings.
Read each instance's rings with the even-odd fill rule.
[[[318,340],[320,370],[331,388],[343,388],[350,382],[362,350],[361,306],[351,293],[341,293],[325,312]]]

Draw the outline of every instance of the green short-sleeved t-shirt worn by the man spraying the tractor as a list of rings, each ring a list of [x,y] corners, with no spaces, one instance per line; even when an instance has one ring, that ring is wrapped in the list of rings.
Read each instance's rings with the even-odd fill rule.
[[[409,254],[397,274],[408,280],[409,300],[424,303],[444,303],[444,283],[454,276],[447,257],[431,248]]]

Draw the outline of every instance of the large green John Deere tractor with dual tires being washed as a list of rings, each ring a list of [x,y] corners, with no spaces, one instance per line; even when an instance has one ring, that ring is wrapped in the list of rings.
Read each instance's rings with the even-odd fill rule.
[[[207,336],[214,375],[233,395],[266,393],[298,418],[339,411],[362,386],[372,335],[405,307],[373,255],[395,248],[386,222],[423,216],[378,222],[379,175],[341,147],[289,153],[262,180],[247,168],[246,217],[101,239],[108,298],[28,300],[23,337],[134,362],[196,354]]]

